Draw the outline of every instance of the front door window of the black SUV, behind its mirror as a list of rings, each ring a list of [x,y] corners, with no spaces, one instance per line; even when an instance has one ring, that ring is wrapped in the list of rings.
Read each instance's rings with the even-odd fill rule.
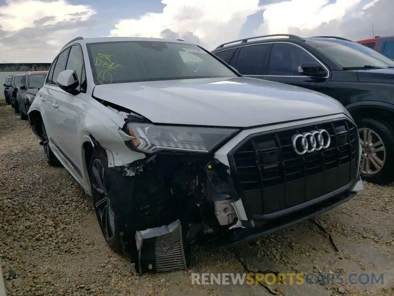
[[[268,75],[299,76],[303,62],[317,62],[307,51],[289,43],[274,43],[269,57]]]

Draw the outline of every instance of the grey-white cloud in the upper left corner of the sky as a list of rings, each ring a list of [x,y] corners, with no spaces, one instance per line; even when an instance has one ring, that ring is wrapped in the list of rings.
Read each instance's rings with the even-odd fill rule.
[[[0,6],[1,62],[52,62],[76,31],[99,24],[95,13],[65,0],[9,0]]]

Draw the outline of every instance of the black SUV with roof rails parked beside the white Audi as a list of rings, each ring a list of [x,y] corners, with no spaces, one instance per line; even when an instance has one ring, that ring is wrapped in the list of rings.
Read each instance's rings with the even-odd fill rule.
[[[341,37],[287,34],[231,41],[212,53],[244,76],[309,88],[340,101],[359,128],[362,179],[394,181],[394,60]]]

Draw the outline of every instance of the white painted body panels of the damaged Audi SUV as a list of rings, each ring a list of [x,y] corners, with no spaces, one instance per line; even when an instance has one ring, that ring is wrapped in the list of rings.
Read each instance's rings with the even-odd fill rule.
[[[63,153],[51,141],[50,148],[89,195],[92,193],[84,143],[95,145],[90,136],[105,148],[109,167],[126,166],[146,158],[145,154],[134,152],[125,145],[129,136],[119,132],[119,129],[125,124],[126,115],[105,107],[99,102],[100,99],[130,109],[153,123],[245,128],[214,155],[227,166],[227,153],[252,133],[294,126],[295,121],[303,124],[349,118],[346,109],[329,96],[260,79],[238,77],[95,85],[85,40],[67,46],[76,43],[82,46],[87,92],[71,95],[57,86],[45,84],[37,93],[28,114],[33,111],[41,113],[48,138],[54,139]],[[93,38],[89,42],[104,42],[102,40]],[[72,159],[74,166],[69,159]],[[357,183],[354,189],[356,191],[361,187]],[[242,201],[234,202],[234,207],[240,219],[246,220]]]

